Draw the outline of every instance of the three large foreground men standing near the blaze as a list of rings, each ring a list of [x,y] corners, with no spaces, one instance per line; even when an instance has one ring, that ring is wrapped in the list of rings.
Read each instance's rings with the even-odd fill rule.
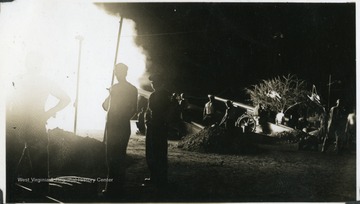
[[[40,179],[49,178],[48,145],[49,138],[46,123],[50,117],[64,109],[70,103],[70,97],[51,80],[43,77],[40,59],[29,56],[28,74],[13,83],[14,93],[7,103],[7,173],[9,192],[14,192],[14,184],[24,160],[30,160],[32,169],[26,170],[28,176]],[[36,61],[34,63],[33,61]],[[137,113],[138,90],[126,80],[128,67],[119,63],[114,67],[117,83],[109,89],[109,96],[102,107],[107,111],[104,144],[108,166],[108,183],[103,195],[119,195],[126,176],[126,149],[131,129],[130,120]],[[148,99],[145,111],[146,124],[146,162],[150,178],[146,185],[159,189],[166,187],[167,181],[167,126],[168,112],[171,106],[171,94],[164,88],[161,75],[149,77],[153,92]],[[45,111],[49,96],[59,102]],[[27,158],[25,158],[27,157]],[[110,182],[111,181],[111,182]],[[47,182],[41,182],[34,190],[47,194]],[[9,200],[14,196],[10,194]]]

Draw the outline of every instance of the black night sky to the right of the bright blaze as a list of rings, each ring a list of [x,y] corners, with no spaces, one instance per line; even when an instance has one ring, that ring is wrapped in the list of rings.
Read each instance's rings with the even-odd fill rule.
[[[150,73],[171,91],[245,102],[244,88],[295,74],[327,104],[355,102],[355,3],[106,3],[135,21]]]

